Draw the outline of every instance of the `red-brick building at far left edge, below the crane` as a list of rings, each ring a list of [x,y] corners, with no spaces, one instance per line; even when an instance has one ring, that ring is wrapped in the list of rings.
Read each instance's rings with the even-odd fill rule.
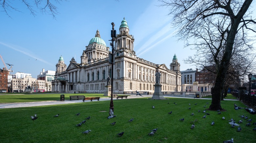
[[[8,71],[0,69],[0,93],[8,92]]]

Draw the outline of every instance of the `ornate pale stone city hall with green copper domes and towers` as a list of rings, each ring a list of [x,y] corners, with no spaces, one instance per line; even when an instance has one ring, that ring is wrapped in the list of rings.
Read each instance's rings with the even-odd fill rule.
[[[97,30],[95,37],[82,51],[79,62],[73,57],[67,66],[64,58],[59,57],[55,79],[52,81],[52,91],[104,93],[107,78],[112,77],[112,70],[114,93],[137,90],[153,94],[157,70],[161,73],[162,91],[181,91],[180,63],[177,56],[173,56],[170,69],[165,64],[155,64],[137,57],[134,51],[134,36],[129,34],[125,19],[122,20],[119,34],[115,38],[114,50],[115,64],[111,69],[108,58],[111,50],[100,38]]]

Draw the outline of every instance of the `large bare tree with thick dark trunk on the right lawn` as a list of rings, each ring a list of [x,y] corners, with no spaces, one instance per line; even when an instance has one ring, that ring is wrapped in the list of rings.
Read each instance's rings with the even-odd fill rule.
[[[209,109],[221,109],[221,93],[229,64],[232,62],[235,38],[238,33],[246,39],[249,30],[256,32],[255,19],[250,17],[251,12],[248,10],[252,0],[160,1],[161,6],[169,8],[169,15],[174,18],[173,24],[179,28],[177,35],[180,39],[194,39],[196,45],[206,42],[201,44],[200,52],[209,53],[214,58],[202,58],[205,63],[212,60],[216,63],[216,80]],[[209,47],[212,48],[209,50]]]

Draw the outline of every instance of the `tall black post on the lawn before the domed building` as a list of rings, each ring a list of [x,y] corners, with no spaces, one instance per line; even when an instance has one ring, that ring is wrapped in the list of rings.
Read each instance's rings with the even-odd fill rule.
[[[110,100],[110,107],[109,107],[109,117],[108,119],[111,119],[111,118],[114,118],[116,117],[114,115],[114,103],[113,103],[113,73],[114,73],[114,64],[115,64],[115,55],[114,55],[114,38],[117,37],[117,32],[115,29],[115,24],[112,22],[111,23],[112,25],[112,30],[111,30],[111,37],[112,37],[112,43],[111,44],[111,47],[112,47],[112,53],[110,54],[111,57],[109,56],[109,63],[111,63],[111,100]]]

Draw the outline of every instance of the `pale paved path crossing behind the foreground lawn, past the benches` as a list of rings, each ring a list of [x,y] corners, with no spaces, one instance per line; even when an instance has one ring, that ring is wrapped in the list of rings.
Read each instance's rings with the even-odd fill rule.
[[[131,98],[151,98],[152,95],[130,95],[128,96],[128,99]],[[164,97],[174,97],[174,98],[189,98],[189,97],[176,97],[176,96],[164,96]],[[110,97],[103,97],[100,98],[100,101],[110,101]],[[194,98],[190,98],[190,99],[194,99]],[[202,99],[202,100],[211,100],[209,98],[195,98],[197,99]],[[113,100],[117,100],[116,98],[113,98]],[[118,99],[118,100],[125,100],[125,99]],[[225,99],[226,100],[226,99]],[[232,100],[232,99],[231,99]],[[233,100],[233,101],[237,101],[237,100]],[[40,101],[40,102],[26,102],[26,103],[0,103],[0,109],[3,108],[19,108],[19,107],[32,107],[32,106],[45,106],[45,105],[56,105],[56,104],[71,104],[71,103],[81,103],[83,102],[83,100],[65,100],[65,101]],[[86,100],[85,102],[91,102],[90,100]],[[97,101],[93,101],[93,102],[97,102]]]

